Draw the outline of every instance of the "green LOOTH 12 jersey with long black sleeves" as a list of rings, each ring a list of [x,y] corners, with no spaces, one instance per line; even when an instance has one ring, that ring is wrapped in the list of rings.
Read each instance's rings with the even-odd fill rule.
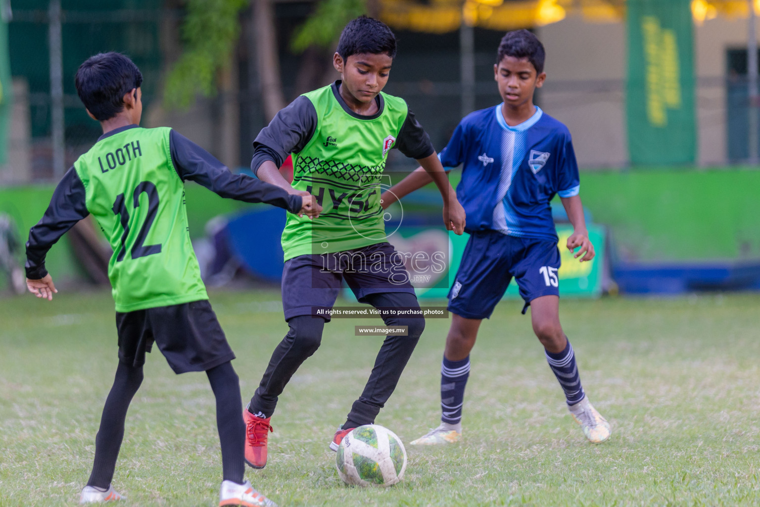
[[[30,230],[27,277],[47,274],[50,247],[92,214],[113,249],[108,275],[117,312],[207,299],[192,249],[185,180],[247,202],[299,211],[302,198],[245,175],[233,175],[171,128],[127,125],[100,137],[79,157]]]

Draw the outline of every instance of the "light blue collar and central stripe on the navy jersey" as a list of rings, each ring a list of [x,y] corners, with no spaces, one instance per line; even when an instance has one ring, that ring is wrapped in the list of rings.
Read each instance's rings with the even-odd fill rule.
[[[528,128],[536,124],[541,119],[543,111],[538,106],[534,106],[536,112],[529,119],[520,125],[511,127],[507,125],[504,115],[502,114],[502,104],[494,108],[496,122],[502,128],[502,173],[499,176],[499,189],[496,192],[496,208],[493,209],[493,228],[500,233],[509,236],[523,236],[523,232],[518,227],[518,217],[515,213],[515,205],[511,201],[511,184],[515,178],[515,173],[520,169],[521,163],[525,158],[525,138]]]

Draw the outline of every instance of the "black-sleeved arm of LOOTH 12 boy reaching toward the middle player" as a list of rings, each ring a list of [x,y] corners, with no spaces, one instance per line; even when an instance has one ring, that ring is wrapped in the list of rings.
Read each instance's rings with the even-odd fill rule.
[[[202,147],[171,131],[169,147],[179,177],[195,181],[223,198],[245,202],[264,202],[285,208],[294,214],[318,215],[315,199],[306,195],[291,195],[276,185],[245,174],[233,174]]]

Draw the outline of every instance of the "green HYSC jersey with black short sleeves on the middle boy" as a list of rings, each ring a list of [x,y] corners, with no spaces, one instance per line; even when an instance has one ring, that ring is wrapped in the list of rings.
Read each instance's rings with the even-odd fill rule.
[[[378,113],[361,116],[342,102],[337,91],[339,84],[305,93],[289,106],[303,109],[302,100],[306,97],[313,106],[309,114],[315,112],[310,123],[314,125],[311,137],[292,153],[292,185],[315,195],[323,211],[314,220],[306,216],[287,217],[282,235],[285,260],[297,255],[343,252],[386,241],[380,184],[388,152],[401,142],[397,139],[405,124],[413,124],[423,138],[420,141],[423,147],[415,147],[415,153],[428,156],[433,152],[429,138],[403,99],[381,92]],[[294,123],[288,121],[287,116],[280,116],[281,130],[287,137],[287,130],[292,131]],[[273,120],[268,132],[262,131],[257,142],[273,144],[271,140],[277,138],[276,123],[277,119]],[[285,149],[290,151],[290,147]]]

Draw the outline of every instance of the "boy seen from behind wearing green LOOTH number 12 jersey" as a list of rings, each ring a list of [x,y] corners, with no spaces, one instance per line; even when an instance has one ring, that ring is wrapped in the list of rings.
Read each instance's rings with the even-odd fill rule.
[[[243,474],[245,426],[239,416],[235,354],[211,305],[192,250],[184,182],[246,202],[268,202],[293,213],[318,214],[312,197],[248,176],[233,175],[171,128],[140,128],[142,75],[125,55],[101,53],[77,71],[79,97],[103,135],[65,174],[42,220],[29,233],[27,286],[37,297],[58,292],[45,269],[50,247],[92,214],[113,255],[109,278],[116,302],[119,366],[103,407],[90,480],[80,503],[122,499],[111,486],[124,423],[154,343],[174,372],[205,371],[217,400],[223,482],[219,505],[274,505]]]

